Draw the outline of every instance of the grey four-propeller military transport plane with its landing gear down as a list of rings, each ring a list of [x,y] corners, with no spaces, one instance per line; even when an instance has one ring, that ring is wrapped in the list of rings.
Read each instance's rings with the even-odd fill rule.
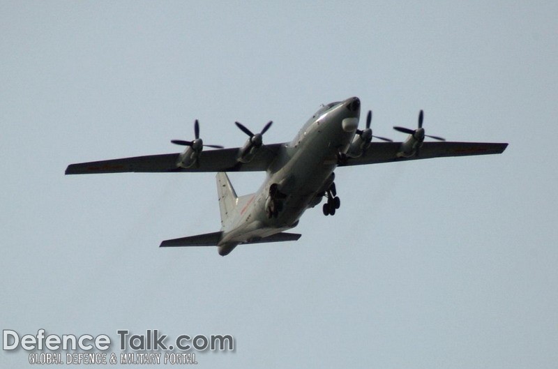
[[[502,153],[508,144],[445,142],[442,137],[425,135],[423,112],[418,128],[394,127],[409,136],[404,142],[391,142],[372,135],[368,116],[359,129],[359,98],[322,105],[291,142],[263,144],[261,132],[236,122],[249,136],[246,144],[234,149],[204,145],[195,121],[195,140],[172,140],[186,146],[182,153],[137,156],[69,165],[66,174],[121,172],[217,172],[217,192],[221,216],[219,232],[163,241],[160,247],[218,246],[220,255],[228,255],[236,246],[247,243],[296,241],[301,234],[287,233],[296,227],[306,209],[325,199],[324,215],[333,216],[340,199],[335,190],[337,167],[399,162],[444,156],[468,156]],[[372,142],[376,137],[384,142]],[[424,142],[430,137],[439,142]],[[216,150],[204,151],[204,146]],[[256,193],[238,196],[226,172],[266,171],[267,177]]]

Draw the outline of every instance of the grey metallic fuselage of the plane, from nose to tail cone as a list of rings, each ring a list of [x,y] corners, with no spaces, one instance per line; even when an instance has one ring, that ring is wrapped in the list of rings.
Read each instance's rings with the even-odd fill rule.
[[[239,216],[223,229],[219,253],[227,255],[239,243],[295,227],[304,211],[318,204],[333,182],[338,158],[347,153],[359,116],[359,98],[348,98],[324,105],[308,119],[294,140],[282,146],[267,170],[266,181],[240,209]],[[280,211],[270,216],[270,204],[279,201]]]

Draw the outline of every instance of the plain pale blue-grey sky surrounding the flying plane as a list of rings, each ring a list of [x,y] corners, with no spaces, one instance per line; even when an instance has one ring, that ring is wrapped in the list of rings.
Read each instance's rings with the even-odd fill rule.
[[[204,368],[556,368],[558,5],[525,3],[0,1],[1,329],[232,334]],[[63,175],[176,152],[194,119],[286,142],[350,96],[377,135],[424,109],[510,146],[340,168],[334,217],[227,257],[158,248],[219,229],[214,174]]]

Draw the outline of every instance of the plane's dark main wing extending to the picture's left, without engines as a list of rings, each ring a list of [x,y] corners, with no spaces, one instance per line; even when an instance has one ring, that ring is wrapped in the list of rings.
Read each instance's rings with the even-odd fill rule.
[[[70,164],[66,174],[123,173],[123,172],[257,172],[267,170],[284,144],[264,145],[250,163],[239,163],[239,148],[202,151],[199,165],[188,169],[176,167],[178,153],[135,156],[112,160]]]

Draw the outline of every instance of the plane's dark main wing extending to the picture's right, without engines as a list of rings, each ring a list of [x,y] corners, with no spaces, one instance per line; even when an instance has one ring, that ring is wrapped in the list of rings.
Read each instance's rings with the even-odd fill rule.
[[[417,155],[398,158],[401,142],[372,142],[360,158],[347,158],[344,165],[390,163],[395,161],[443,158],[448,156],[489,155],[503,153],[508,144],[488,142],[424,142]],[[332,160],[337,160],[332,158]]]

